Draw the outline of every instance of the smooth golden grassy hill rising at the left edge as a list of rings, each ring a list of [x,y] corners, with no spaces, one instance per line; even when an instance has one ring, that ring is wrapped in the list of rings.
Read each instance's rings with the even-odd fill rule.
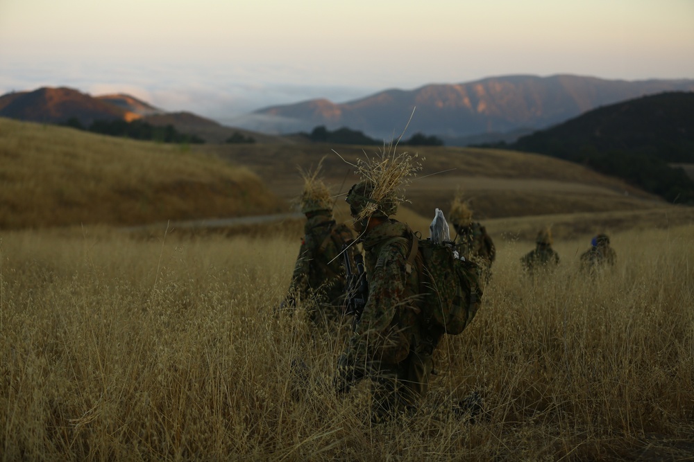
[[[246,168],[190,150],[0,118],[0,229],[286,209]]]

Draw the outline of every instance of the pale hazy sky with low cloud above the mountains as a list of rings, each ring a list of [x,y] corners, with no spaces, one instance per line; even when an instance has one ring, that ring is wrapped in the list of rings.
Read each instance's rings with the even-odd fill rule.
[[[694,78],[694,0],[0,0],[0,93],[223,119],[493,75]]]

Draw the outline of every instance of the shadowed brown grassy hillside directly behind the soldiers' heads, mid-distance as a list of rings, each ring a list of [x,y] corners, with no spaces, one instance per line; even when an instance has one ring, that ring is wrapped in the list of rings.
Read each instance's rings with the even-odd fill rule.
[[[296,197],[303,187],[298,166],[316,166],[322,157],[326,182],[333,192],[346,193],[357,181],[348,162],[373,157],[373,146],[226,145],[196,147],[257,172],[274,193]],[[333,149],[335,152],[333,152]],[[665,203],[624,181],[537,154],[450,147],[402,147],[423,158],[423,171],[408,188],[413,211],[432,216],[434,208],[448,211],[458,190],[471,199],[480,219],[554,213],[645,210]],[[340,155],[338,155],[337,153]],[[337,199],[342,202],[343,197]]]

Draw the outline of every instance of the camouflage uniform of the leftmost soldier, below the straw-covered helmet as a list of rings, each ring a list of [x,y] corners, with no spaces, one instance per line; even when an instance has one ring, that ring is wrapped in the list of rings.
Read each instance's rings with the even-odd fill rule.
[[[345,224],[336,224],[327,210],[307,213],[289,296],[285,305],[310,301],[310,317],[320,321],[337,321],[344,315],[344,258],[340,256],[343,242],[354,238]],[[337,236],[335,236],[337,233]],[[356,247],[350,249],[350,253]]]

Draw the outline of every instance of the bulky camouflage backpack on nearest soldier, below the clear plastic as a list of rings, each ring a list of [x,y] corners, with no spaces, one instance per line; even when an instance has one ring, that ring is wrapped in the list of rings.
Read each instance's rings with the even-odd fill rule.
[[[435,244],[413,233],[407,261],[416,265],[421,308],[430,328],[458,335],[475,317],[482,301],[481,268],[453,249],[452,242]],[[416,258],[417,256],[421,258]]]

